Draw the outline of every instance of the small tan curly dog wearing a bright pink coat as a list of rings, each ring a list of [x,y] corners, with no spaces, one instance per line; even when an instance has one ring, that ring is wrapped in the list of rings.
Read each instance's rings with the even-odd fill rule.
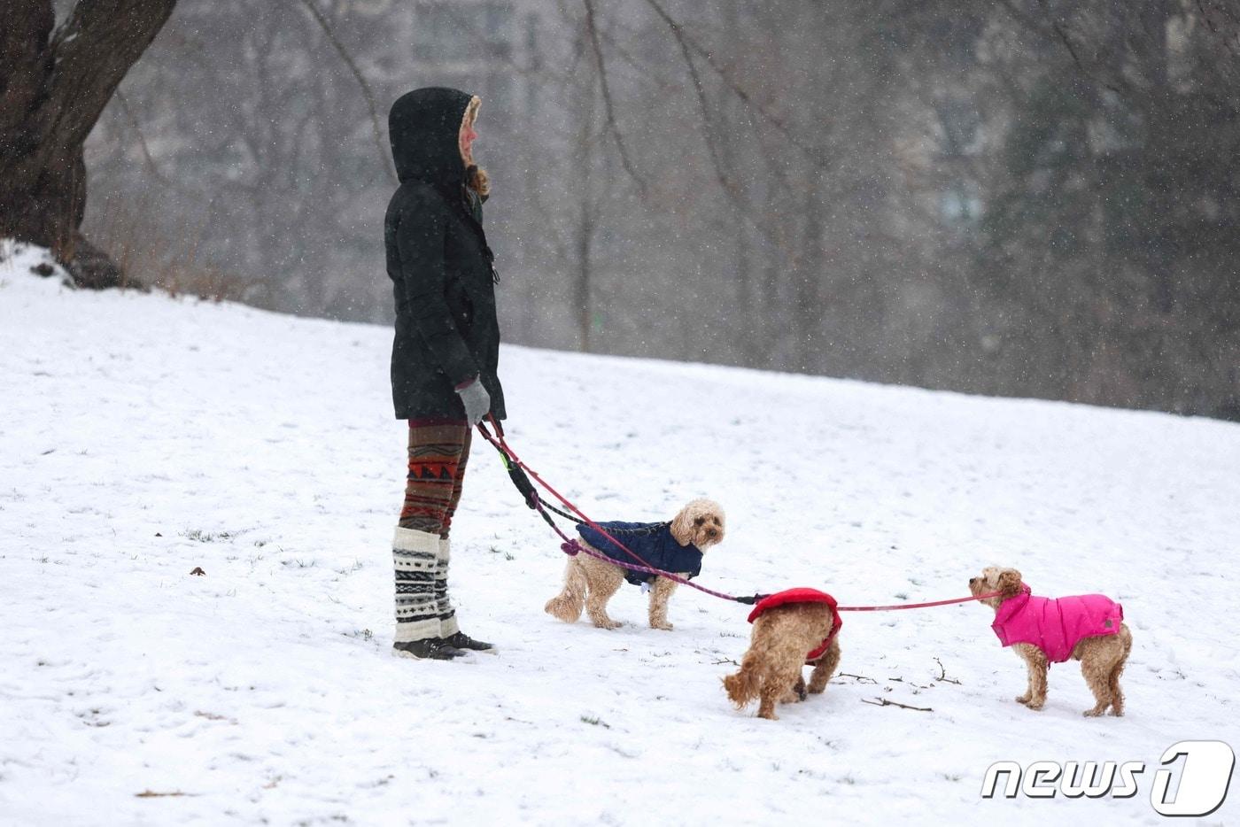
[[[1071,598],[1038,598],[1016,569],[987,567],[970,578],[976,596],[998,591],[980,603],[994,609],[991,629],[1003,646],[1011,646],[1029,670],[1029,684],[1017,698],[1029,709],[1047,702],[1047,672],[1052,663],[1081,662],[1081,674],[1097,703],[1086,717],[1123,714],[1120,674],[1132,651],[1132,632],[1123,624],[1123,606],[1100,594]]]

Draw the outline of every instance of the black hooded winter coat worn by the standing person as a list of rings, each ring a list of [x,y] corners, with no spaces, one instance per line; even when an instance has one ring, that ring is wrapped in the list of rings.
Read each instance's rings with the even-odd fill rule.
[[[460,126],[471,95],[414,89],[388,114],[401,187],[383,223],[396,295],[392,402],[398,419],[465,420],[456,386],[479,377],[503,419],[495,268],[481,200],[465,187]]]

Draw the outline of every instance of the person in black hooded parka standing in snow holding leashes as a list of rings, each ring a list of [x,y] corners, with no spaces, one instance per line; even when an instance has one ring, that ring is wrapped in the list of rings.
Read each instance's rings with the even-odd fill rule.
[[[404,657],[494,651],[456,622],[448,539],[471,429],[505,418],[494,255],[482,232],[490,181],[472,159],[477,97],[414,89],[388,115],[401,186],[383,224],[396,298],[392,400],[409,423],[409,474],[392,543],[396,642]]]

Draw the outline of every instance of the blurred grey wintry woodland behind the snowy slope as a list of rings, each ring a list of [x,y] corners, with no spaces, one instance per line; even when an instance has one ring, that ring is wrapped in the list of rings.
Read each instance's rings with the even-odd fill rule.
[[[371,110],[456,86],[508,341],[1240,418],[1238,2],[218,0],[86,228],[386,322]]]

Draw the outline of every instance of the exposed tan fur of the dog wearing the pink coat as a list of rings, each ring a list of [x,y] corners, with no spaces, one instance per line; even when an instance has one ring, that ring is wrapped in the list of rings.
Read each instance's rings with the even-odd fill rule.
[[[982,569],[981,577],[968,580],[968,589],[975,595],[1001,591],[997,598],[980,601],[998,611],[1004,600],[1021,594],[1021,573],[1016,569],[988,565]],[[1024,694],[1017,696],[1016,702],[1029,709],[1042,709],[1047,703],[1047,672],[1050,667],[1047,655],[1033,643],[1014,643],[1012,651],[1024,661],[1029,672]],[[1081,662],[1081,674],[1085,676],[1085,683],[1089,684],[1096,701],[1092,709],[1085,710],[1087,718],[1101,715],[1107,707],[1112,715],[1123,714],[1120,676],[1131,651],[1132,632],[1127,624],[1120,624],[1120,631],[1115,635],[1085,637],[1073,647],[1071,660]]]

